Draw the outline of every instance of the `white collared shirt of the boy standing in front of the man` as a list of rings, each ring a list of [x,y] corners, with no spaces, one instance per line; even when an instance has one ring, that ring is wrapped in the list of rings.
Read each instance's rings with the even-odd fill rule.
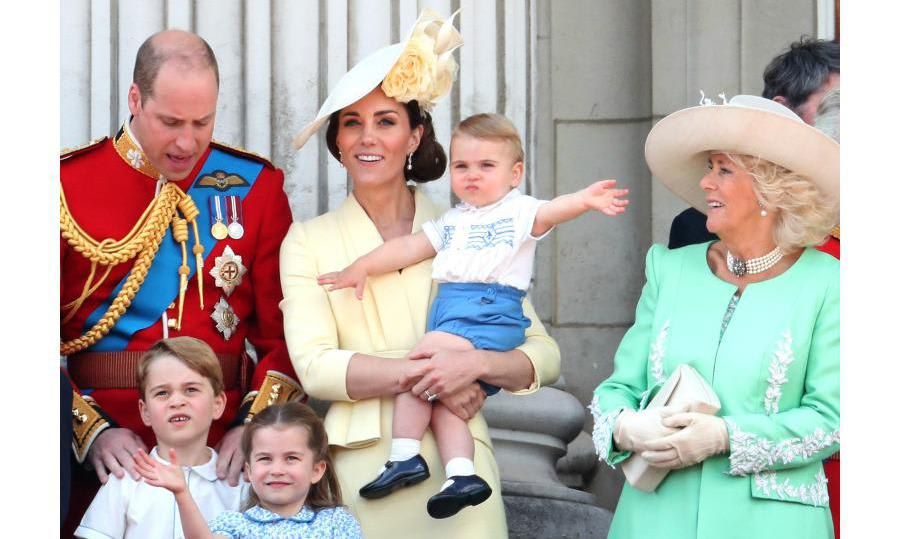
[[[239,511],[249,493],[249,483],[242,475],[236,487],[230,486],[227,480],[218,479],[215,474],[218,454],[214,449],[209,451],[212,457],[205,464],[182,467],[187,488],[207,522],[223,511]],[[150,456],[168,464],[155,447]],[[100,487],[81,519],[75,536],[84,539],[182,539],[184,532],[174,494],[142,480],[135,481],[126,473],[123,479],[110,474],[109,481]]]

